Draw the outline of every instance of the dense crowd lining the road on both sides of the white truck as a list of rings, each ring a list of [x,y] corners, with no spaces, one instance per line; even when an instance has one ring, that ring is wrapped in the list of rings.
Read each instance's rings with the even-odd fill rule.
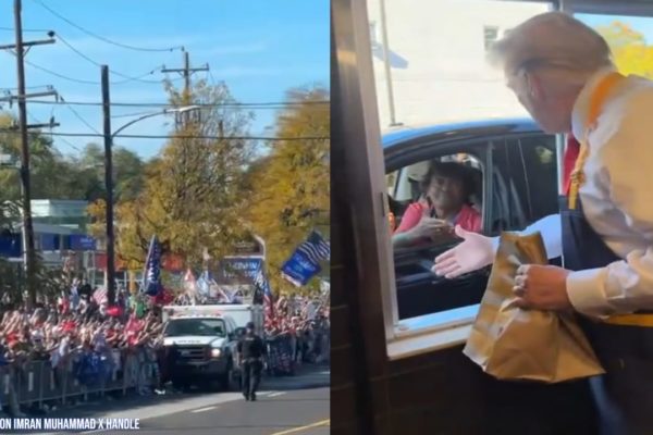
[[[294,361],[324,359],[328,311],[308,313],[308,302],[291,310],[284,300],[275,304],[274,320],[267,321],[269,346],[279,343],[280,337],[293,336],[292,350],[287,352],[292,352]],[[164,394],[172,364],[163,347],[165,324],[161,302],[160,298],[130,295],[120,289],[116,304],[108,307],[102,291],[89,291],[84,285],[74,286],[56,300],[38,298],[32,309],[4,299],[0,301],[0,378],[5,374],[24,376],[27,364],[40,361],[52,369],[57,383],[64,377],[65,370],[86,387],[97,386],[116,374],[128,374],[138,380],[138,394]],[[164,302],[197,301],[176,297]],[[12,385],[4,397],[0,393],[0,403],[9,406],[13,415],[21,415]]]

